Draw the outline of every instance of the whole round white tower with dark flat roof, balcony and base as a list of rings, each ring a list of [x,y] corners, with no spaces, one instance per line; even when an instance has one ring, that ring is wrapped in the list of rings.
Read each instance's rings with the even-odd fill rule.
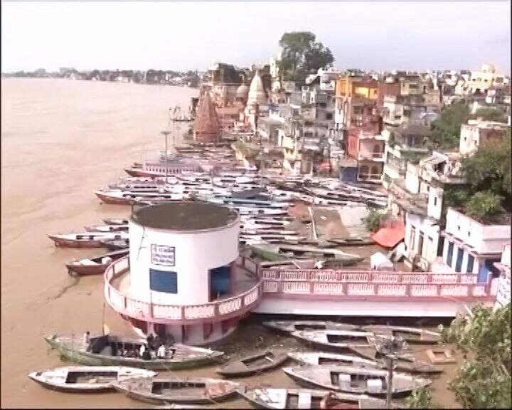
[[[236,265],[239,231],[238,213],[214,204],[135,210],[127,268],[114,263],[105,273],[107,301],[144,335],[165,333],[191,345],[227,336],[260,297],[259,280],[247,282]]]

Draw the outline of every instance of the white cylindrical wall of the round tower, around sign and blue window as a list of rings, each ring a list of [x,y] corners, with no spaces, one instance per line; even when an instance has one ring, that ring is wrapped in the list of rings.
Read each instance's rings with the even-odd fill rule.
[[[194,305],[208,303],[208,270],[238,258],[240,221],[215,231],[176,232],[143,228],[129,222],[130,287],[134,297],[153,303]],[[174,246],[175,266],[151,264],[151,244]],[[149,268],[178,274],[178,293],[149,290]]]

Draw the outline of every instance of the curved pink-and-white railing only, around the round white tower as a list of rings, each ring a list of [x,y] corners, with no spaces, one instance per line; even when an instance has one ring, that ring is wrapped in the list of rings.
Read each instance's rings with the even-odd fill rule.
[[[262,280],[255,286],[232,298],[216,300],[202,305],[166,305],[127,298],[112,285],[112,279],[129,270],[129,256],[114,261],[105,270],[105,298],[109,305],[129,317],[161,323],[191,324],[238,317],[252,309],[260,301]]]

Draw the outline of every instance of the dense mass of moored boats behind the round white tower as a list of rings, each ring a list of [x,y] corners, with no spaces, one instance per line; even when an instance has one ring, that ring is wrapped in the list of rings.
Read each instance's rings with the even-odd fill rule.
[[[240,243],[267,261],[281,261],[282,253],[297,258],[326,257],[336,266],[349,266],[361,257],[334,247],[373,243],[370,238],[339,239],[319,246],[292,224],[290,214],[296,201],[316,206],[357,202],[385,206],[384,194],[337,179],[282,176],[268,172],[262,176],[242,167],[228,146],[175,147],[175,153],[161,152],[158,162],[134,164],[119,179],[95,194],[107,204],[158,204],[163,201],[206,201],[235,208],[240,214]],[[166,157],[167,156],[167,157]],[[171,158],[169,158],[171,157]],[[55,246],[107,248],[110,253],[67,263],[72,275],[95,275],[129,248],[127,219],[104,219],[103,225],[85,226],[80,233],[48,235]],[[304,261],[308,265],[308,261]],[[304,265],[304,267],[307,267]],[[332,265],[332,266],[334,266]]]

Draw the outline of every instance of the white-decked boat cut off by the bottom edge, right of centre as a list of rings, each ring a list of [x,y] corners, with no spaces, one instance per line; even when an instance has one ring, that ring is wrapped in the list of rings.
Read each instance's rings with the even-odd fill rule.
[[[256,409],[320,409],[327,393],[313,389],[252,389],[239,392]],[[334,392],[331,403],[336,409],[386,408],[385,400],[363,394]]]

